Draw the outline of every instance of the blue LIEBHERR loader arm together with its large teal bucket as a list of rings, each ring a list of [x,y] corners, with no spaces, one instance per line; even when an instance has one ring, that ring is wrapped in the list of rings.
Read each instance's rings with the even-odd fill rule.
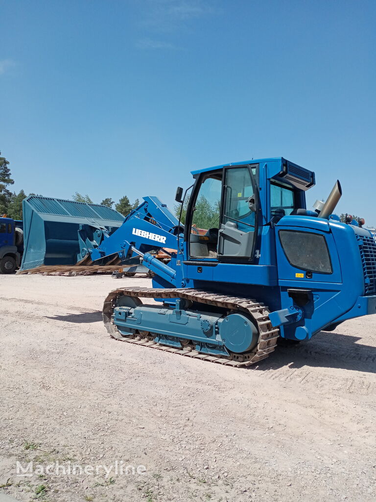
[[[181,227],[157,197],[144,197],[125,218],[106,206],[40,196],[28,197],[23,206],[22,273],[116,270],[137,265],[149,252],[163,249],[168,256],[177,249]],[[145,256],[144,265],[171,284],[174,272],[153,258]]]

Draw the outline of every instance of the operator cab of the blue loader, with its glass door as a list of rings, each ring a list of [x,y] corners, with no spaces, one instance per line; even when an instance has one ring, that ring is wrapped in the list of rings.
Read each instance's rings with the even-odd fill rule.
[[[294,186],[281,169],[265,185],[264,174],[259,163],[197,172],[185,221],[191,260],[252,262],[258,227],[274,226],[285,215],[305,211],[308,187]]]

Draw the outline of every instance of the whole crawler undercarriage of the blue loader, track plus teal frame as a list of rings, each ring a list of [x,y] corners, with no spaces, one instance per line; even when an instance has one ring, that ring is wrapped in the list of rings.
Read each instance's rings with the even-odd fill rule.
[[[165,304],[143,306],[139,298],[177,301],[175,308]],[[184,306],[196,305],[197,309],[192,308],[187,315],[187,310],[177,308],[180,302],[184,302]],[[208,307],[213,312],[203,314]],[[164,326],[169,328],[168,335],[166,329],[163,329],[164,333],[145,329],[147,321],[143,321],[142,314],[147,309],[169,316],[169,322],[163,319]],[[134,315],[137,312],[140,315]],[[195,320],[199,316],[197,322],[201,328],[193,328],[195,334],[192,336],[183,329],[189,323],[189,315]],[[135,327],[124,329],[121,318],[129,316],[133,316]],[[103,321],[108,333],[117,340],[237,367],[255,364],[268,357],[279,337],[279,329],[273,328],[269,310],[262,303],[196,289],[119,288],[112,291],[104,302]],[[154,320],[151,329],[156,329],[155,324]]]

